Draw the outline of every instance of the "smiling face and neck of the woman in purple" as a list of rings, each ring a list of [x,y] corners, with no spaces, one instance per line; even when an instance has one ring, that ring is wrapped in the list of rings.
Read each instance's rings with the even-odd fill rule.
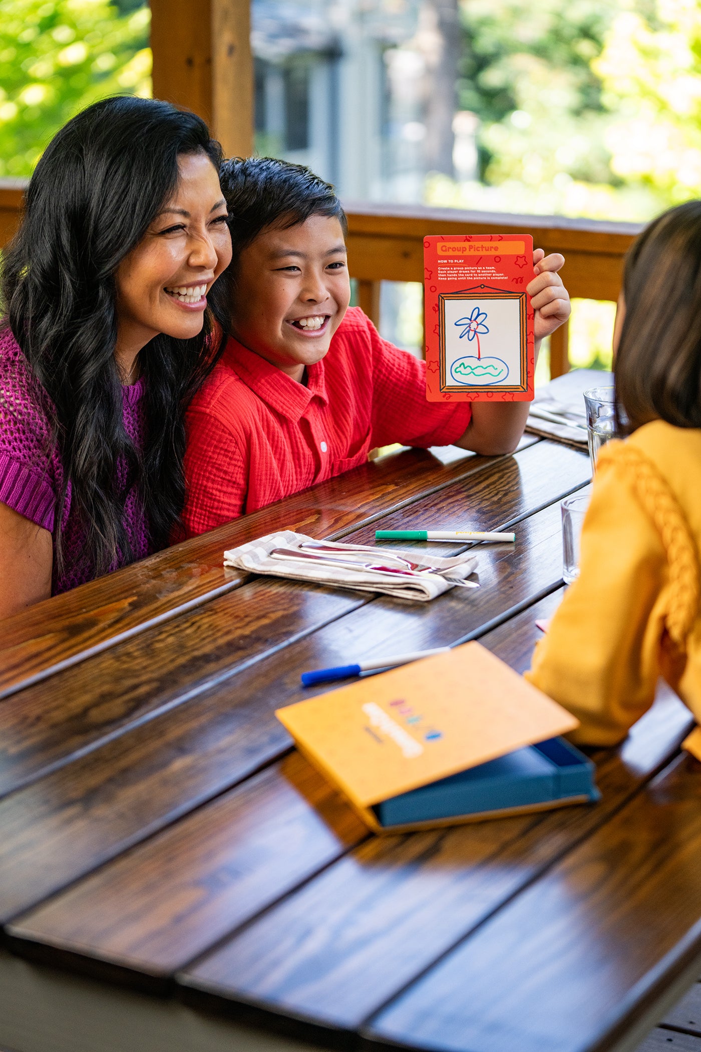
[[[214,166],[202,153],[181,157],[178,167],[171,199],[117,268],[116,357],[124,365],[159,332],[180,340],[197,336],[207,292],[231,260]]]

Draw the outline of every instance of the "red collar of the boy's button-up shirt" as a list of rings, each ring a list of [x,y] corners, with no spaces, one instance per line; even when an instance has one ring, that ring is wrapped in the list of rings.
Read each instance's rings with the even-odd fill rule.
[[[228,339],[224,361],[263,402],[295,423],[313,398],[321,399],[325,405],[328,403],[323,361],[307,367],[306,385],[292,380],[233,337]]]

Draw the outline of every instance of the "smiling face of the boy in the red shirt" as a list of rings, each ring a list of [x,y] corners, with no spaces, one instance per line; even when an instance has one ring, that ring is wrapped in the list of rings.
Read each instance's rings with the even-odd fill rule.
[[[310,216],[287,229],[268,227],[235,264],[231,326],[249,350],[302,382],[319,362],[350,302],[341,223]]]

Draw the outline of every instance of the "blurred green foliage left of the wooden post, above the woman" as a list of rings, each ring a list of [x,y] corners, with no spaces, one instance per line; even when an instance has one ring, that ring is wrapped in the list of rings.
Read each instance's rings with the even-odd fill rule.
[[[116,94],[149,96],[148,6],[0,0],[0,176],[27,176],[65,122]]]

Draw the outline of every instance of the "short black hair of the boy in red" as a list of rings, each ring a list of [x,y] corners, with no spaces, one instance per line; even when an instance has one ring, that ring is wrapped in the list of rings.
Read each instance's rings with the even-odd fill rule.
[[[336,191],[303,164],[274,157],[232,157],[220,168],[222,193],[229,209],[235,267],[241,252],[268,227],[287,229],[310,216],[335,217],[348,234]]]

